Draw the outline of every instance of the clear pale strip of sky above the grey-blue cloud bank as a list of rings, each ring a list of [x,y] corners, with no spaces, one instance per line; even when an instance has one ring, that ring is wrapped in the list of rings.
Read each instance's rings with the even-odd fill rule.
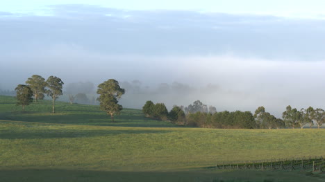
[[[4,12],[34,12],[42,13],[46,7],[58,4],[87,4],[106,8],[127,10],[197,10],[201,12],[226,12],[276,15],[282,17],[323,17],[325,1],[323,0],[28,0],[28,1],[3,1],[0,10]]]

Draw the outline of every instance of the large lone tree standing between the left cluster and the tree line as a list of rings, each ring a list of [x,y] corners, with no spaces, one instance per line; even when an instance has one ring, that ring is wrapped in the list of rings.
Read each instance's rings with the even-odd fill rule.
[[[98,85],[97,93],[99,94],[97,100],[101,110],[106,111],[110,115],[112,122],[115,122],[114,115],[119,114],[123,109],[118,102],[125,90],[119,87],[117,80],[110,79]]]

